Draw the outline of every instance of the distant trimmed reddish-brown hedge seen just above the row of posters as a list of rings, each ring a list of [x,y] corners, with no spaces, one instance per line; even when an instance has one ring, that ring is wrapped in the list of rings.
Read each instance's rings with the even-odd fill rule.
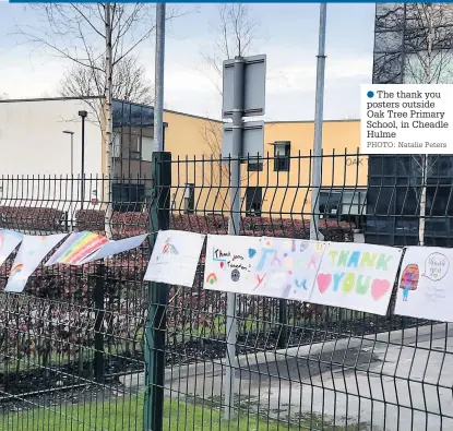
[[[63,231],[65,213],[55,208],[27,206],[0,206],[0,228]],[[75,214],[78,230],[105,234],[105,212],[80,209]],[[147,213],[114,213],[111,218],[114,238],[146,234],[150,229]],[[170,228],[200,234],[227,234],[228,217],[225,215],[177,214],[170,217]],[[326,241],[354,241],[354,225],[345,222],[320,220],[320,230]],[[247,236],[272,236],[309,238],[310,220],[279,217],[242,217],[240,234]]]

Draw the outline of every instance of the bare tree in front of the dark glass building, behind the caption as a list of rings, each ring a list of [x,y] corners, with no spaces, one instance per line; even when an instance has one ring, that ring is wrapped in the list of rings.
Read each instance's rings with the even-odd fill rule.
[[[452,82],[453,8],[446,3],[407,3],[403,76],[406,84]],[[420,178],[416,195],[419,207],[418,242],[425,246],[427,180],[439,156],[410,156],[406,168],[409,181]]]

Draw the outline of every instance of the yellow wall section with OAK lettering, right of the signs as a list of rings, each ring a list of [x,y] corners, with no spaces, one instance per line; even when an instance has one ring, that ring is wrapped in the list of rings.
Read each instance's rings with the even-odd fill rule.
[[[267,196],[263,197],[263,212],[301,213],[309,216],[311,208],[311,166],[310,151],[313,148],[313,122],[266,123],[264,151],[271,157],[263,177],[258,181],[265,187]],[[276,141],[290,142],[289,172],[275,172],[272,157]],[[360,145],[360,121],[325,121],[322,135],[322,185],[327,189],[366,188],[368,160],[358,156]],[[298,157],[300,154],[300,158]],[[267,168],[267,169],[266,169]],[[263,176],[264,173],[264,176]]]

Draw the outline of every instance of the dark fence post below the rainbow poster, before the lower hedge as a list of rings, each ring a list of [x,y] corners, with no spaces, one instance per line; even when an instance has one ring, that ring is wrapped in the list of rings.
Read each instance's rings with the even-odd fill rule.
[[[96,310],[96,321],[94,325],[94,376],[96,382],[104,382],[104,334],[103,322],[105,314],[104,292],[105,292],[105,266],[100,261],[96,267],[95,284],[93,289],[94,309]]]

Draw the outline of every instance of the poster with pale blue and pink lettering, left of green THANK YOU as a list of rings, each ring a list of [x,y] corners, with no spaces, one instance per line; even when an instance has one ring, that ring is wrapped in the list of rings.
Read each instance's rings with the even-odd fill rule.
[[[325,242],[267,238],[258,249],[254,295],[308,301]]]

